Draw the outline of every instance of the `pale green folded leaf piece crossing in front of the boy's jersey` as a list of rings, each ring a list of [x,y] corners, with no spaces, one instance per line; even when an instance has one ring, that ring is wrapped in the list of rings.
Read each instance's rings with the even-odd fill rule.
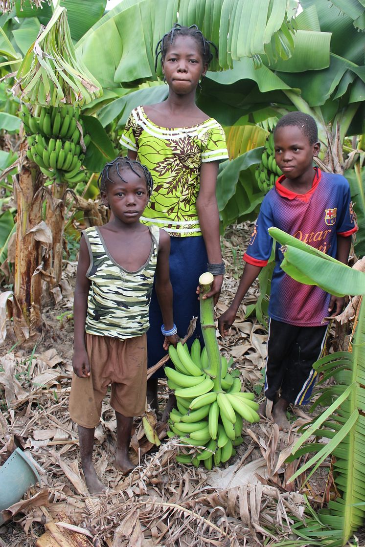
[[[269,234],[282,245],[284,259],[280,267],[294,280],[317,285],[335,296],[365,294],[363,272],[353,270],[279,228],[269,228]]]

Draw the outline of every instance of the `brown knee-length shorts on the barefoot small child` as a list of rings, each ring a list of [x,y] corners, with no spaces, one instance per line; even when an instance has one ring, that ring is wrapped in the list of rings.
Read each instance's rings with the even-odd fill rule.
[[[85,346],[91,372],[88,378],[73,374],[68,404],[72,420],[82,427],[96,427],[109,385],[115,411],[123,416],[141,416],[146,405],[146,334],[119,340],[86,333]]]

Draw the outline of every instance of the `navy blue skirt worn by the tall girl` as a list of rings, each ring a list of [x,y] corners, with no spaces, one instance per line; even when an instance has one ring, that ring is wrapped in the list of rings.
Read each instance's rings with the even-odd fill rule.
[[[190,347],[195,337],[199,337],[204,345],[200,328],[199,300],[196,287],[199,277],[207,269],[207,253],[202,236],[171,237],[170,250],[170,280],[173,290],[173,319],[178,335],[187,334],[190,320],[198,317],[193,336],[188,340]],[[153,366],[166,355],[163,348],[165,337],[161,333],[163,318],[153,288],[149,306],[149,324],[147,331],[148,366]],[[164,369],[159,369],[153,378],[164,378]]]

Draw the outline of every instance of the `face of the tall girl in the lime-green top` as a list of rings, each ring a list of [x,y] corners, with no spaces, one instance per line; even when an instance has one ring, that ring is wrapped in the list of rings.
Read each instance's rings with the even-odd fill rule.
[[[207,68],[199,44],[190,36],[176,36],[169,45],[162,63],[166,83],[177,95],[195,92]]]

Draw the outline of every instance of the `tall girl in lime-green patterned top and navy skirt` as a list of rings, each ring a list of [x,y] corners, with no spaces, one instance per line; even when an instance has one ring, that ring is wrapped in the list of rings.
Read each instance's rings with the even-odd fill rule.
[[[169,96],[132,110],[120,140],[129,158],[146,165],[154,180],[141,222],[164,228],[172,236],[173,317],[181,335],[193,316],[199,318],[195,294],[199,276],[207,270],[215,276],[206,297],[214,296],[216,302],[224,274],[216,183],[219,161],[228,158],[227,146],[222,126],[195,104],[196,88],[213,58],[211,45],[196,25],[176,24],[165,34],[156,48],[156,67],[160,55]],[[148,366],[152,366],[163,357],[164,339],[155,294],[149,323]],[[195,334],[201,336],[200,324]],[[147,382],[147,399],[154,408],[158,408],[157,377],[162,376],[157,373]]]

